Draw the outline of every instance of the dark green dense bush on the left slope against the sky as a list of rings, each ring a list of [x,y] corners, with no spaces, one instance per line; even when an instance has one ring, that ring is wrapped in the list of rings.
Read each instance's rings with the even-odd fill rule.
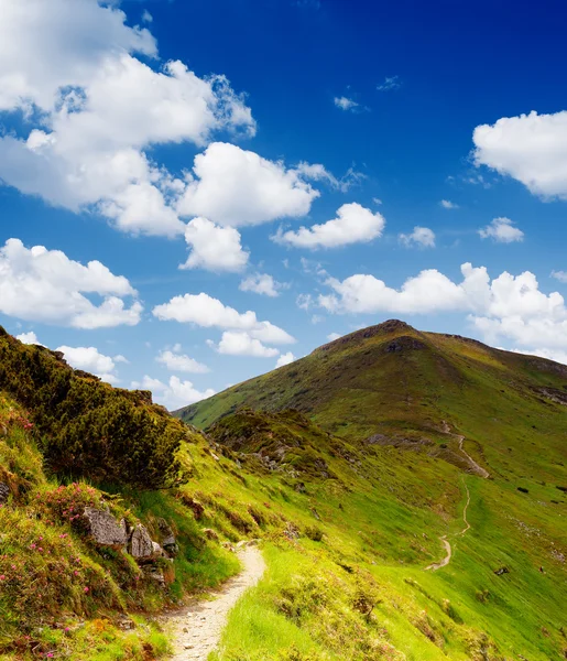
[[[148,393],[75,372],[58,354],[22,345],[1,327],[0,389],[33,412],[54,473],[139,488],[161,488],[179,476],[176,453],[188,431]]]

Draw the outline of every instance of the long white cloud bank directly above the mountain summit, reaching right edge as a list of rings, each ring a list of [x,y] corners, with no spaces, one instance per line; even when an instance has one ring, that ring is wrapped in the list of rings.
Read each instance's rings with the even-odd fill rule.
[[[484,267],[470,263],[462,264],[461,272],[462,281],[454,282],[436,269],[425,270],[399,290],[373,275],[329,278],[334,293],[319,295],[318,304],[338,314],[464,312],[491,344],[506,338],[531,350],[567,349],[565,300],[558,292],[542,292],[533,273],[504,271],[491,280]]]

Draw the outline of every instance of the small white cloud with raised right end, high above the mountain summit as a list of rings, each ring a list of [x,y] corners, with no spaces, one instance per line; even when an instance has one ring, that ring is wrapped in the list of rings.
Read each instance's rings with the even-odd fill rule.
[[[382,236],[384,217],[360,204],[344,204],[337,212],[337,218],[323,225],[301,227],[296,231],[277,231],[272,239],[279,243],[295,248],[338,248],[350,243],[368,242]]]

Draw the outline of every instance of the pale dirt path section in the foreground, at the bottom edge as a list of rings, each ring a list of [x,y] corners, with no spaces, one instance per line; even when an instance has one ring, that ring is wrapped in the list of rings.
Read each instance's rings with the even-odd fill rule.
[[[255,546],[246,546],[239,557],[242,572],[212,593],[211,600],[199,602],[168,618],[175,649],[172,661],[206,661],[217,648],[230,609],[265,570],[264,559]]]

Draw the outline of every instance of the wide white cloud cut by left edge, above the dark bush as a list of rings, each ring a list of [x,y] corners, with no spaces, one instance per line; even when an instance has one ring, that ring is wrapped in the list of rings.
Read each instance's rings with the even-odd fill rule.
[[[92,303],[91,294],[102,302]],[[9,316],[76,328],[132,326],[142,305],[126,307],[122,299],[135,295],[126,278],[99,261],[85,267],[59,250],[28,249],[19,239],[0,248],[0,312]]]

